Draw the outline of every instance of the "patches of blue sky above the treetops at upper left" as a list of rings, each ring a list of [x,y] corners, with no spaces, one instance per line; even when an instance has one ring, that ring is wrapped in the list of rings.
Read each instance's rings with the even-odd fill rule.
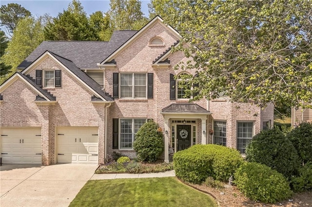
[[[0,0],[0,5],[18,3],[34,16],[48,13],[52,17],[57,17],[64,9],[67,9],[70,2],[71,0]],[[80,0],[80,2],[88,16],[96,11],[107,12],[110,8],[110,0]],[[148,17],[147,4],[150,0],[141,0],[141,2],[141,10],[144,16]],[[5,31],[2,27],[1,30]]]

